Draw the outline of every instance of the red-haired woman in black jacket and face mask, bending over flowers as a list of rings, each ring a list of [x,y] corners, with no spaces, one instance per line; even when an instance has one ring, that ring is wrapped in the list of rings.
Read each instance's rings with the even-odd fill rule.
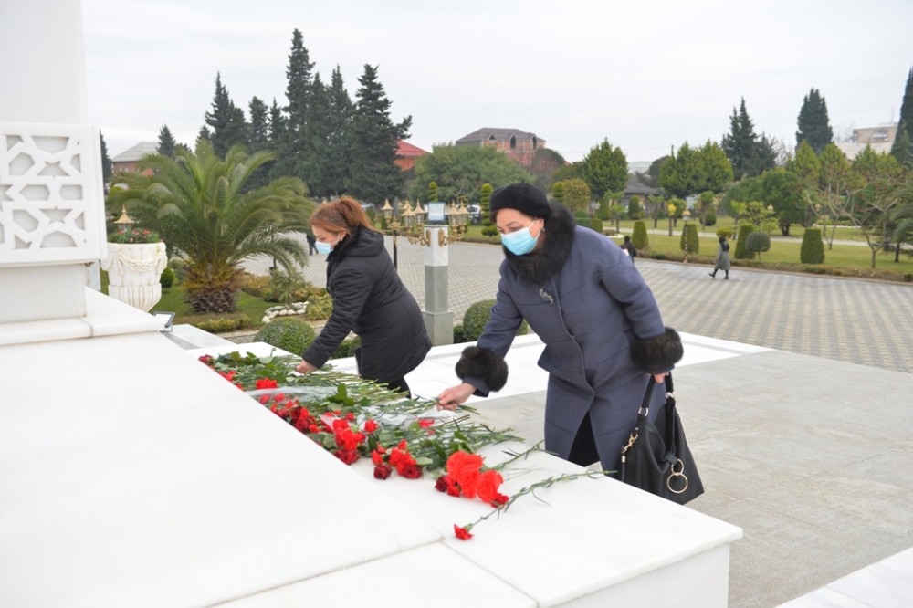
[[[349,196],[321,204],[310,217],[317,250],[327,255],[333,312],[296,368],[310,373],[354,331],[362,338],[355,361],[362,378],[409,393],[405,374],[431,350],[422,311],[383,246],[383,235]]]

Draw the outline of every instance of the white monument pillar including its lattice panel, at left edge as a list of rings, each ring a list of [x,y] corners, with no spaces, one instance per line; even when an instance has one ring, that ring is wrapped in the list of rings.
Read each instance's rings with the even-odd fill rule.
[[[106,239],[79,0],[5,3],[0,57],[0,323],[83,317]]]

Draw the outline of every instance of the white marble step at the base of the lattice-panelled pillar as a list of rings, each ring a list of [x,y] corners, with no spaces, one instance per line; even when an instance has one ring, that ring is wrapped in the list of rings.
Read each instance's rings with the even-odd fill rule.
[[[86,316],[0,323],[0,346],[161,331],[164,321],[92,288],[85,288]]]

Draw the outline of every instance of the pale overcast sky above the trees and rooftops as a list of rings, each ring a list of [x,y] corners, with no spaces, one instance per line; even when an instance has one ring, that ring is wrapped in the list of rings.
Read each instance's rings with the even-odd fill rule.
[[[82,0],[89,119],[111,157],[167,124],[193,144],[215,75],[245,110],[284,105],[292,31],[352,100],[365,64],[430,151],[483,127],[536,133],[569,161],[603,139],[629,162],[717,141],[744,97],[795,143],[818,89],[834,135],[897,121],[910,0]]]

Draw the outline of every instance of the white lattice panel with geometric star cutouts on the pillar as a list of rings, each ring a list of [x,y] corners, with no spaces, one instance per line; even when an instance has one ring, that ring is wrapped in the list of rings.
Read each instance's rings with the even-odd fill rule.
[[[100,160],[89,125],[0,122],[0,267],[104,257]]]

